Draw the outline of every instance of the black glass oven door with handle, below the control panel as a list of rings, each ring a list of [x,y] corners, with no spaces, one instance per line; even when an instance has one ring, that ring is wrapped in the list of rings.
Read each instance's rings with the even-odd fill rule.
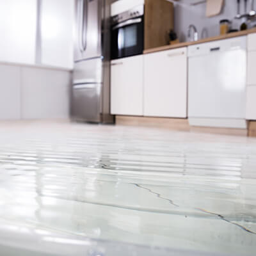
[[[119,59],[143,53],[144,22],[143,16],[125,20],[112,26],[111,59]]]

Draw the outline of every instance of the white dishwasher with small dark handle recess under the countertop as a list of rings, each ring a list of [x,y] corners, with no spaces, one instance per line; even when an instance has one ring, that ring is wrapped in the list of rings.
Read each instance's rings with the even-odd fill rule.
[[[192,126],[246,128],[246,36],[188,47]]]

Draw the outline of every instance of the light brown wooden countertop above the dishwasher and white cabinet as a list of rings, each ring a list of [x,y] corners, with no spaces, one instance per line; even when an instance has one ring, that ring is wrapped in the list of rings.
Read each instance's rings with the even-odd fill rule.
[[[237,36],[244,36],[244,35],[248,35],[248,34],[251,34],[251,33],[256,33],[256,28],[247,29],[247,30],[244,30],[244,31],[233,32],[233,33],[229,33],[227,35],[212,36],[212,37],[204,38],[204,39],[201,39],[201,40],[198,40],[198,41],[195,41],[195,42],[184,42],[184,43],[173,44],[173,45],[164,45],[164,46],[161,46],[161,47],[147,49],[147,50],[143,51],[143,53],[147,54],[147,53],[152,53],[152,52],[159,52],[159,51],[164,51],[164,50],[177,49],[177,48],[186,47],[186,46],[189,46],[189,45],[202,44],[202,43],[206,43],[206,42],[212,42],[212,41],[216,41],[216,40],[223,40],[223,39],[233,38],[233,37],[237,37]]]

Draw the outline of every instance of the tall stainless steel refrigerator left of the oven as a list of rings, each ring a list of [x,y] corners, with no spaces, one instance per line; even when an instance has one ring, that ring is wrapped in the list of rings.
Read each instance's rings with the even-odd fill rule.
[[[75,120],[113,122],[109,106],[110,3],[111,0],[76,0],[71,109]]]

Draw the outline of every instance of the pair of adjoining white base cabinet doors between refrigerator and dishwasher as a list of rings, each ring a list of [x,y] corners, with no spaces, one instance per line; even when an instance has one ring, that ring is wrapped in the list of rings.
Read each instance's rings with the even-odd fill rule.
[[[187,117],[187,49],[111,61],[111,114]]]

